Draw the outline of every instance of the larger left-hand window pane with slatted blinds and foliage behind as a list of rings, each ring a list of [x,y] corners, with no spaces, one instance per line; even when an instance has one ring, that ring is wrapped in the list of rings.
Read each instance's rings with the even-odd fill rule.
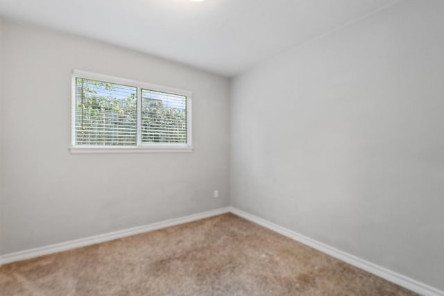
[[[76,78],[76,144],[136,145],[137,87]]]

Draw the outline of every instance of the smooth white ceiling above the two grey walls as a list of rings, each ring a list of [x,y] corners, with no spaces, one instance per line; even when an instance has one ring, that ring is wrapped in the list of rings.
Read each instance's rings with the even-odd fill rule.
[[[0,0],[0,15],[222,76],[399,0]]]

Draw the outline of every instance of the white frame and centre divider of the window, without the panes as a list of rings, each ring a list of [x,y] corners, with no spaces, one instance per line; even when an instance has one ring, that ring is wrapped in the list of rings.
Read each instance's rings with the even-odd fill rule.
[[[137,144],[135,146],[93,146],[76,144],[76,78],[99,80],[137,87]],[[82,70],[74,70],[71,79],[71,146],[69,146],[71,153],[190,153],[193,151],[194,148],[191,143],[191,101],[193,93],[191,91]],[[187,143],[142,143],[142,89],[178,94],[187,97]]]

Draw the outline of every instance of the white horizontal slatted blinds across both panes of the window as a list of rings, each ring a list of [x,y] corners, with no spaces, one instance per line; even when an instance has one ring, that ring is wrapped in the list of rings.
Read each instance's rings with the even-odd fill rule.
[[[187,143],[187,96],[142,89],[142,143]],[[76,78],[78,145],[136,145],[137,87]]]

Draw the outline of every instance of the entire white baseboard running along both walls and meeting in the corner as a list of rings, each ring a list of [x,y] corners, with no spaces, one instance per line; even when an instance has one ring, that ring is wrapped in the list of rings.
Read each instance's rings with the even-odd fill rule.
[[[64,243],[56,243],[54,245],[47,245],[44,247],[36,247],[29,250],[24,250],[20,252],[13,252],[10,254],[4,254],[0,256],[0,265],[11,263],[15,261],[22,261],[26,259],[35,258],[37,256],[43,256],[47,254],[53,254],[56,252],[62,252],[67,250],[72,250],[77,247],[85,247],[87,245],[94,245],[96,243],[103,243],[105,241],[112,241],[117,238],[123,238],[126,236],[133,236],[135,234],[142,234],[144,232],[151,232],[153,230],[162,229],[166,227],[171,227],[175,225],[180,225],[183,223],[188,223],[191,221],[200,220],[203,218],[209,218],[212,216],[217,216],[225,213],[231,212],[237,216],[242,218],[246,218],[253,223],[258,225],[262,225],[268,229],[271,229],[273,232],[277,232],[278,234],[282,234],[287,236],[294,241],[298,241],[299,243],[303,243],[304,245],[308,245],[309,247],[313,247],[316,250],[319,250],[325,254],[329,254],[336,259],[349,263],[350,265],[356,266],[357,268],[361,268],[362,270],[366,270],[367,272],[372,273],[373,275],[377,275],[378,277],[382,277],[387,281],[391,281],[395,284],[403,286],[409,290],[412,290],[420,295],[425,296],[444,296],[444,291],[438,290],[432,286],[428,286],[426,284],[421,283],[420,281],[416,281],[409,277],[405,277],[404,275],[400,275],[397,272],[393,272],[382,266],[376,265],[374,263],[368,262],[364,259],[360,259],[357,256],[353,256],[352,254],[348,254],[341,250],[338,250],[334,247],[330,247],[329,245],[325,245],[324,243],[315,241],[312,238],[304,236],[302,234],[298,234],[297,232],[293,232],[290,229],[282,227],[280,225],[271,223],[265,219],[259,218],[252,214],[248,214],[245,211],[241,211],[240,209],[236,209],[234,207],[223,207],[221,209],[215,209],[212,211],[205,211],[203,213],[198,213],[190,216],[173,218],[169,220],[164,220],[158,223],[153,223],[150,225],[138,226],[129,229],[119,230],[117,232],[109,232],[107,234],[99,234],[97,236],[89,236],[87,238],[80,238],[74,241],[67,241]]]

